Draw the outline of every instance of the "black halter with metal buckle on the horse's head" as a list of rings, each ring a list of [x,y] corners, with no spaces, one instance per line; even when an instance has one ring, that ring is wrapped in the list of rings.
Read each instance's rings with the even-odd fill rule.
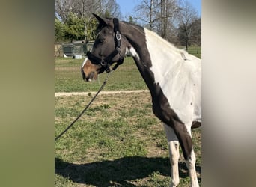
[[[112,61],[112,59],[115,57],[115,55],[119,54],[119,59],[118,61],[116,61],[117,64],[115,64],[115,67],[113,67],[112,70],[115,70],[118,68],[118,66],[120,64],[123,64],[124,62],[124,56],[121,55],[121,34],[119,31],[119,22],[117,18],[113,18],[113,23],[114,23],[114,32],[115,32],[115,50],[110,53],[109,56],[107,56],[106,58],[98,58],[97,56],[93,55],[91,52],[87,52],[87,57],[88,59],[91,61],[92,64],[100,64],[103,67],[103,71],[106,70],[107,73],[110,72],[109,67],[114,63],[114,61]]]

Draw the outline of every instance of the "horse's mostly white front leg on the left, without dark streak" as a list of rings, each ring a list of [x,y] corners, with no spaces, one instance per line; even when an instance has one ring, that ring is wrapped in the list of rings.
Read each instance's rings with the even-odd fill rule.
[[[171,129],[170,126],[163,123],[165,127],[165,133],[168,140],[168,150],[169,150],[169,156],[170,156],[170,162],[171,162],[171,186],[175,187],[180,183],[180,177],[179,177],[179,141],[177,139],[177,136],[174,133],[174,130]]]

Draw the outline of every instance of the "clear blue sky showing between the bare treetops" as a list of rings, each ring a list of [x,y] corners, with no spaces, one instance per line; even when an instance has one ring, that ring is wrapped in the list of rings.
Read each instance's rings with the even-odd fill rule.
[[[116,0],[116,2],[120,6],[120,10],[124,19],[127,14],[133,12],[135,5],[138,4],[139,1],[140,0]],[[188,1],[190,4],[192,4],[193,7],[195,7],[195,10],[198,11],[198,15],[201,16],[201,0],[188,0]]]

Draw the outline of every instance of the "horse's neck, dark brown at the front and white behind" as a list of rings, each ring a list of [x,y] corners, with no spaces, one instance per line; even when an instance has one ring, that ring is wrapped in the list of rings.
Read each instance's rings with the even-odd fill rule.
[[[146,28],[124,24],[122,34],[131,44],[132,56],[152,95],[156,93],[156,78],[175,65],[178,51],[171,43]],[[181,56],[181,55],[180,55]],[[162,58],[159,61],[159,58]],[[157,59],[157,60],[156,60]]]

